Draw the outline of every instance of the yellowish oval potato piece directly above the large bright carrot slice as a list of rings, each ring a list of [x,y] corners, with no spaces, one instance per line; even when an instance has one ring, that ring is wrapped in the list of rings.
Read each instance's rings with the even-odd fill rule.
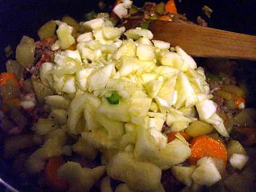
[[[210,134],[214,130],[214,127],[203,121],[193,121],[188,128],[186,128],[186,133],[191,137],[202,136],[204,134]]]

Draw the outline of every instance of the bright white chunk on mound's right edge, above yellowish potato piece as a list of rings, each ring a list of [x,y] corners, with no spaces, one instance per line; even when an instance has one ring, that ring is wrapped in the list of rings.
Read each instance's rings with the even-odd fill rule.
[[[196,109],[198,111],[199,118],[206,120],[215,114],[217,105],[213,100],[205,99],[204,101],[196,104]]]

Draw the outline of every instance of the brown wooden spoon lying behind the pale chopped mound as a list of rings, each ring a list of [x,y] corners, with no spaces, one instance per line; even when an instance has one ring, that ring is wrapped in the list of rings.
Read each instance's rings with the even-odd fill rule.
[[[256,60],[256,36],[201,27],[196,24],[149,20],[154,39],[180,46],[189,55],[199,57]],[[131,28],[142,23],[128,19],[124,26]]]

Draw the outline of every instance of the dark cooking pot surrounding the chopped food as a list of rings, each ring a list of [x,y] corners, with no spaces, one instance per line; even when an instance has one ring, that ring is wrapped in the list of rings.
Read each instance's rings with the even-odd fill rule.
[[[106,5],[113,5],[114,1],[105,0]],[[142,6],[143,2],[135,0],[135,5]],[[151,2],[160,2],[151,0]],[[189,20],[195,21],[200,15],[208,22],[209,27],[229,30],[232,32],[256,34],[256,17],[254,0],[177,0],[177,9],[180,13],[186,13]],[[207,18],[202,12],[203,5],[208,5],[213,9],[211,18]],[[106,6],[104,11],[108,11]],[[42,24],[51,19],[60,19],[63,15],[70,15],[79,20],[85,19],[85,13],[95,10],[99,12],[98,0],[76,1],[76,0],[0,0],[0,70],[5,70],[4,48],[11,45],[15,47],[20,42],[21,37],[26,34],[38,40],[37,30]],[[256,67],[253,62],[243,61],[246,67],[245,77],[250,84],[251,97],[256,98],[254,92],[254,82]],[[256,66],[256,65],[255,65]],[[1,137],[0,137],[1,139]],[[2,140],[0,140],[2,146]],[[1,152],[0,152],[1,154]],[[18,181],[8,175],[9,165],[0,158],[0,178],[17,188],[18,191],[38,191],[33,188],[33,181]],[[4,188],[2,188],[4,191]],[[1,187],[0,187],[0,191]]]

